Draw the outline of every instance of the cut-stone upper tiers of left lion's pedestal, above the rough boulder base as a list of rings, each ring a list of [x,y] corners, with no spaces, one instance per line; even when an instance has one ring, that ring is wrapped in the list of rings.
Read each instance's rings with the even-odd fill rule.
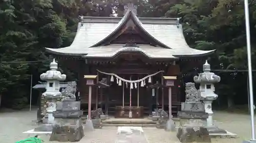
[[[80,110],[80,101],[73,99],[65,99],[62,102],[58,101],[54,117],[56,118],[79,118],[82,116]]]

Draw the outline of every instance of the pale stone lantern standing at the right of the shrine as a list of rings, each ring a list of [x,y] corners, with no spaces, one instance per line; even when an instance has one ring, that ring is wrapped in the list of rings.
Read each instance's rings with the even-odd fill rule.
[[[214,84],[220,82],[220,80],[220,76],[210,72],[210,65],[207,63],[207,60],[203,65],[203,73],[194,77],[194,81],[200,84],[199,91],[201,94],[201,100],[204,102],[205,112],[209,115],[207,118],[207,129],[209,133],[226,133],[225,130],[215,127],[212,120],[214,112],[212,112],[211,103],[218,98],[218,95],[215,94]]]

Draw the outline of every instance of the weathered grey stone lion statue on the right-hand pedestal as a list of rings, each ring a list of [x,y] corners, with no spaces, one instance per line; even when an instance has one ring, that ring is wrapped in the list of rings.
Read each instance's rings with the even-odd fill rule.
[[[186,102],[199,102],[201,100],[200,92],[196,89],[193,82],[186,83],[185,93]]]

